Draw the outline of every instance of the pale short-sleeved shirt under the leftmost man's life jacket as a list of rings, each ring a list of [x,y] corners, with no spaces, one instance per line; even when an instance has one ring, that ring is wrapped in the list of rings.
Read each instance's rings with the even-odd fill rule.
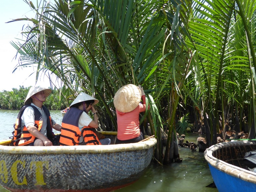
[[[41,115],[43,116],[43,124],[42,124],[42,128],[40,130],[40,133],[42,133],[44,136],[47,136],[47,115],[44,112],[43,108],[37,107],[36,105],[34,105],[34,103],[31,103],[31,105],[35,106],[39,112],[41,113]],[[52,125],[54,125],[56,122],[52,120]],[[22,116],[21,116],[21,127],[23,126],[28,127],[29,125],[35,125],[35,112],[34,109],[32,107],[27,107]]]

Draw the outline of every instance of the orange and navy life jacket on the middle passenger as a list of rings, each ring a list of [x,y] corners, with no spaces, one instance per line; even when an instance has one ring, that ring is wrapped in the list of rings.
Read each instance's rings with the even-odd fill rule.
[[[62,119],[61,133],[59,144],[64,145],[99,145],[99,141],[95,128],[84,126],[82,131],[78,127],[78,122],[82,114],[82,110],[72,107],[67,111]],[[80,137],[83,136],[83,142]]]

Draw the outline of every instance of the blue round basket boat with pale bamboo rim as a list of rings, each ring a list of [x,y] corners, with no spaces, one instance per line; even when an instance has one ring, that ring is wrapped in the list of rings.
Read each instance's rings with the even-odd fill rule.
[[[219,192],[256,191],[256,173],[243,161],[246,152],[255,150],[255,141],[232,141],[212,145],[204,152]]]

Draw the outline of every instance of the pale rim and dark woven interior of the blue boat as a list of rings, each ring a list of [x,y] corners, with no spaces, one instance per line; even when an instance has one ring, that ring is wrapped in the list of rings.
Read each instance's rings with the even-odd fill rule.
[[[256,173],[249,171],[242,161],[246,152],[255,150],[254,141],[232,141],[209,147],[204,152],[204,157],[216,169],[256,184]]]

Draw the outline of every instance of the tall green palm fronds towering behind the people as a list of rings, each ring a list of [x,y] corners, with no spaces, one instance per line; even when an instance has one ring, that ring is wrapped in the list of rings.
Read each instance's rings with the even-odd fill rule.
[[[56,75],[64,83],[61,100],[80,91],[99,99],[106,130],[117,129],[115,92],[141,84],[151,106],[141,123],[158,140],[160,163],[178,156],[179,120],[204,128],[208,145],[230,121],[254,138],[256,0],[24,2],[35,18],[14,20],[29,23],[24,38],[12,42],[17,67]]]

